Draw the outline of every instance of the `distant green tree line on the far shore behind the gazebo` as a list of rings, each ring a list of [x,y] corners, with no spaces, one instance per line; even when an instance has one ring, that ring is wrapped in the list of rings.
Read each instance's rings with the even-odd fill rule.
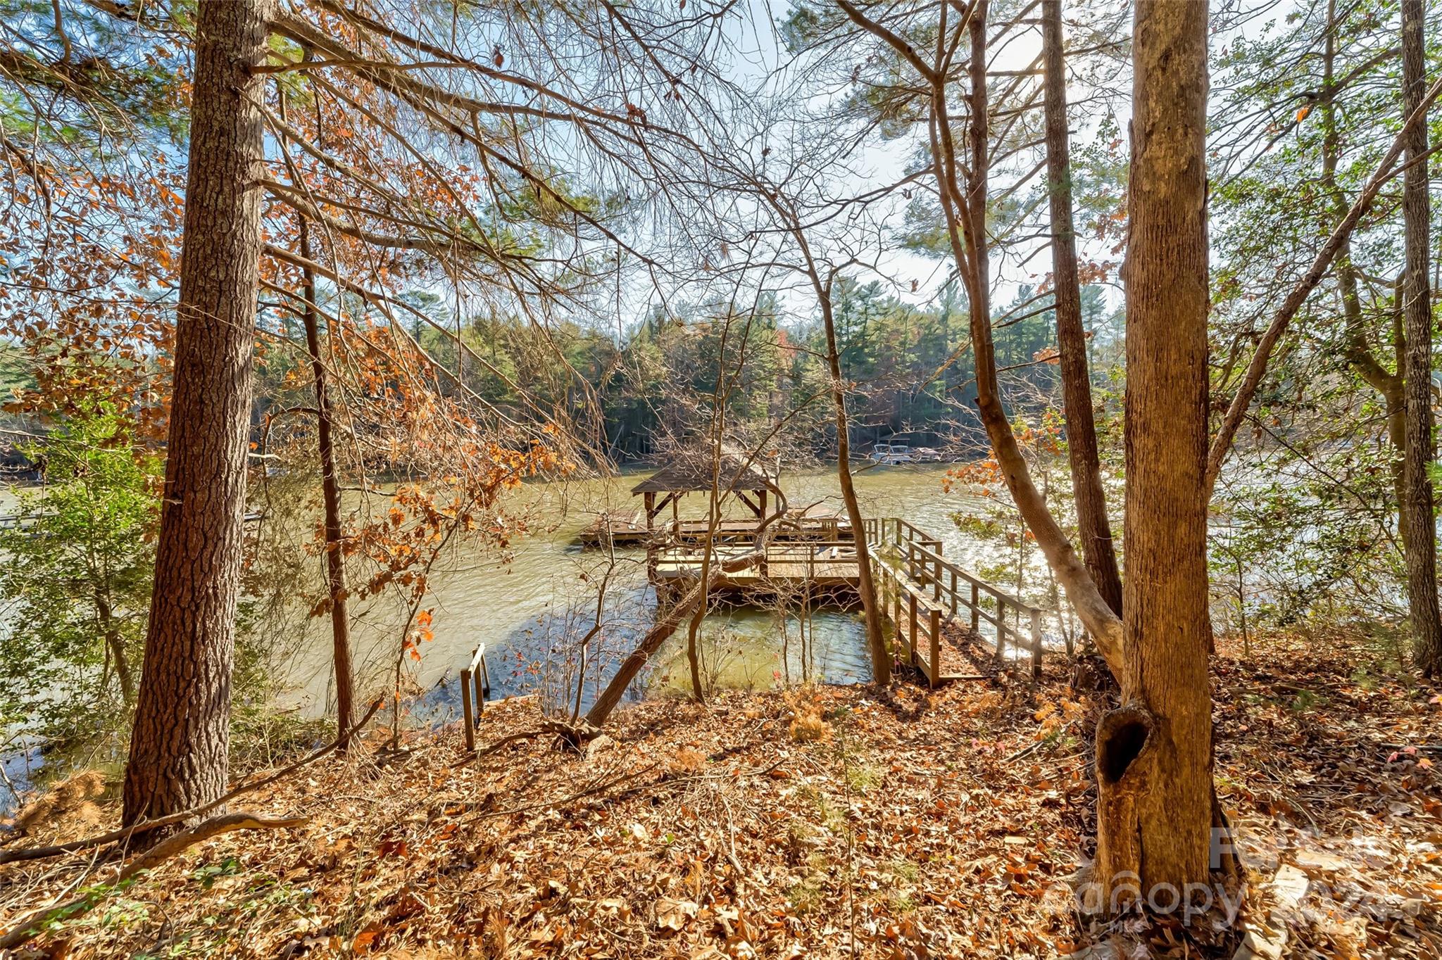
[[[870,450],[895,437],[953,454],[985,453],[965,298],[947,288],[932,303],[913,304],[881,281],[852,280],[839,283],[838,294],[842,375],[854,385],[852,444]],[[996,363],[1015,412],[1040,411],[1057,396],[1051,301],[1050,291],[1019,287],[995,311]],[[1119,360],[1120,311],[1107,307],[1099,285],[1083,287],[1082,301],[1094,334],[1096,376],[1106,379]],[[594,323],[542,330],[516,317],[464,316],[461,349],[454,333],[438,330],[456,330],[454,308],[428,293],[415,295],[415,303],[435,326],[415,321],[414,337],[437,366],[460,372],[450,389],[499,408],[541,402],[557,414],[577,409],[590,389],[600,404],[598,445],[619,463],[645,461],[695,435],[722,370],[741,372],[741,389],[730,394],[727,408],[734,428],[760,428],[792,415],[787,438],[795,453],[835,457],[835,424],[818,401],[826,379],[820,323],[787,316],[774,294],[744,306],[658,307],[629,329],[623,324],[619,334]],[[747,336],[733,334],[722,353],[728,326],[746,327]]]

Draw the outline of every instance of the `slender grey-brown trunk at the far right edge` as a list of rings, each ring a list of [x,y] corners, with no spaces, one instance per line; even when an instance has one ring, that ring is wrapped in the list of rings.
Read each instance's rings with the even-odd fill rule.
[[[1422,105],[1426,61],[1423,50],[1423,1],[1402,0],[1402,102],[1403,117]],[[1407,608],[1417,667],[1426,676],[1442,676],[1442,614],[1438,611],[1436,515],[1432,479],[1432,291],[1428,218],[1428,127],[1417,124],[1406,143],[1407,170],[1402,182],[1402,222],[1406,234],[1406,278],[1402,288],[1403,329],[1407,355],[1403,375],[1406,392],[1406,438],[1402,517],[1407,559]]]

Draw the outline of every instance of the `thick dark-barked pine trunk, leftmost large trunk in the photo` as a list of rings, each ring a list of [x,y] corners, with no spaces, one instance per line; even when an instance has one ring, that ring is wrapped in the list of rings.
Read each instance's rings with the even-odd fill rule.
[[[215,797],[229,773],[251,360],[260,283],[261,79],[268,0],[196,20],[164,505],[124,822]]]

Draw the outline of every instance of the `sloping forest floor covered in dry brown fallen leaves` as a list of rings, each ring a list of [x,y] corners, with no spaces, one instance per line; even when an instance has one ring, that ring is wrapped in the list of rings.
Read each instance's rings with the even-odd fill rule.
[[[1234,652],[1230,652],[1234,653]],[[235,806],[306,816],[190,848],[32,943],[36,956],[1442,956],[1442,698],[1374,650],[1273,641],[1217,657],[1217,784],[1240,925],[1090,923],[1100,695],[1060,657],[1035,688],[959,682],[724,693],[619,712],[583,755],[467,757],[460,731],[326,757]],[[536,728],[489,706],[482,742]],[[1429,748],[1429,750],[1428,750]],[[84,804],[82,804],[84,806]],[[110,806],[32,817],[49,843]],[[0,928],[108,869],[0,868]],[[1090,946],[1090,948],[1089,948]]]

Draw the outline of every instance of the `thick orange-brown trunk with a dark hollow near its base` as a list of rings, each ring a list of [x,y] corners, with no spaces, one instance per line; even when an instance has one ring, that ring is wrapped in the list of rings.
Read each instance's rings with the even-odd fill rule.
[[[1138,0],[1132,49],[1123,706],[1097,728],[1096,879],[1125,902],[1135,874],[1165,911],[1208,879],[1214,807],[1207,4]]]

